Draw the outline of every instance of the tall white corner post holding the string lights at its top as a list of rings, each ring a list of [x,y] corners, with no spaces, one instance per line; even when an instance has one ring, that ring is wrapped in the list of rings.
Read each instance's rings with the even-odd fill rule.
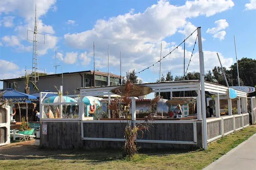
[[[205,91],[204,91],[204,60],[201,27],[197,28],[198,35],[198,51],[199,51],[199,65],[200,65],[200,84],[201,84],[201,105],[202,105],[202,121],[203,121],[203,149],[207,149],[207,124],[206,124],[206,106],[205,106]]]

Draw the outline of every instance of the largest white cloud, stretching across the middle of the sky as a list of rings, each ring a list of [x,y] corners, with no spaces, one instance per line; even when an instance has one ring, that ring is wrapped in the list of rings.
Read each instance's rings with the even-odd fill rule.
[[[111,67],[119,68],[119,51],[121,50],[122,70],[136,69],[139,71],[159,60],[161,42],[163,56],[175,48],[174,43],[167,43],[163,40],[164,38],[174,35],[178,30],[183,30],[180,33],[188,35],[191,33],[190,30],[196,29],[196,26],[187,21],[188,18],[199,15],[212,16],[234,6],[232,0],[187,1],[182,6],[170,3],[160,0],[141,13],[130,11],[108,20],[99,19],[91,30],[65,34],[65,43],[73,48],[88,49],[87,55],[91,57],[93,56],[93,41],[95,41],[97,68],[104,68],[108,65],[106,61],[109,44]],[[196,36],[196,33],[193,36]],[[190,45],[194,44],[195,37],[191,37],[188,42]],[[187,55],[189,56],[189,53]],[[179,48],[164,59],[162,68],[170,71],[175,67],[175,71],[179,72],[183,70],[182,66],[180,70],[177,69],[182,63],[183,49]],[[157,67],[152,70],[158,72],[159,66]]]

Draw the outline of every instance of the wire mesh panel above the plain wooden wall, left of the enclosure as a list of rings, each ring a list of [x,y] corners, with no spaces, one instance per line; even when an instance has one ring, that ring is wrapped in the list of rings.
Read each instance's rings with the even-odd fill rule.
[[[61,105],[45,104],[43,105],[42,118],[61,118]],[[62,118],[79,118],[78,104],[63,104]]]

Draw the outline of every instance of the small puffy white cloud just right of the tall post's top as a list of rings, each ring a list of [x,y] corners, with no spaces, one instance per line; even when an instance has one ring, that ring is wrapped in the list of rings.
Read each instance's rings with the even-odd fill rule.
[[[226,31],[221,31],[221,30],[225,30],[228,27],[228,22],[226,21],[226,19],[220,19],[215,21],[214,23],[217,26],[211,29],[208,28],[206,32],[210,34],[214,34],[213,35],[214,38],[219,38],[219,40],[223,40],[226,35]]]

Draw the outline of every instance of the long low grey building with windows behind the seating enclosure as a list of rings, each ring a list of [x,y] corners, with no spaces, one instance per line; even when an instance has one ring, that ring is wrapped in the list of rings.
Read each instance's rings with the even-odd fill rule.
[[[112,74],[110,73],[110,85],[118,85],[122,81],[122,78],[120,78],[120,75]],[[16,90],[17,91],[24,91],[25,83],[24,78],[15,78],[15,79],[5,79],[0,80],[3,81],[3,89],[6,88],[13,88],[14,84],[16,84]],[[32,78],[31,78],[32,81]],[[57,87],[62,85],[62,74],[49,74],[49,75],[41,75],[39,76],[39,90],[49,90],[52,92],[57,92]],[[108,73],[101,72],[101,71],[95,71],[95,86],[107,86],[108,85]],[[30,94],[35,93],[33,90],[33,86],[30,83]],[[88,70],[88,71],[78,71],[78,72],[66,72],[63,73],[63,95],[67,95],[67,92],[69,95],[77,94],[75,90],[77,88],[81,87],[94,87],[94,71]]]

